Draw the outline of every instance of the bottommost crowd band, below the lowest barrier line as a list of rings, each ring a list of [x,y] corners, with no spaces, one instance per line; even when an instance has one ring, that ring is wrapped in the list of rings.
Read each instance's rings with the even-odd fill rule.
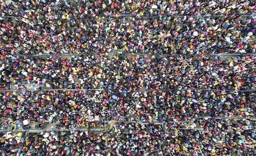
[[[108,133],[0,133],[3,155],[255,155],[255,120],[205,120],[203,130],[118,123]]]

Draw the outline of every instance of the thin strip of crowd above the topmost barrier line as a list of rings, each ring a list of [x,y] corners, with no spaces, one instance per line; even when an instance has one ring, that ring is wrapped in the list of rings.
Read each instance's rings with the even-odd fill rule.
[[[142,1],[48,1],[48,0],[1,0],[2,14],[23,18],[93,18],[115,15],[176,15],[176,14],[252,14],[254,1],[234,0],[142,0]]]

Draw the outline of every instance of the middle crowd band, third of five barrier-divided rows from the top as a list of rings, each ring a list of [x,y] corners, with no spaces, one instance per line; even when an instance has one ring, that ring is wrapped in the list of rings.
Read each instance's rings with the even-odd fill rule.
[[[158,89],[256,89],[255,55],[237,57],[155,55],[73,55],[0,59],[0,80],[54,89],[104,89],[114,92]]]

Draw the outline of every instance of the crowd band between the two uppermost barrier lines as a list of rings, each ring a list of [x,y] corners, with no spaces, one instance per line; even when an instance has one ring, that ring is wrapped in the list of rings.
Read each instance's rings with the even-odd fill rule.
[[[255,15],[90,18],[48,21],[4,17],[4,54],[254,53]]]

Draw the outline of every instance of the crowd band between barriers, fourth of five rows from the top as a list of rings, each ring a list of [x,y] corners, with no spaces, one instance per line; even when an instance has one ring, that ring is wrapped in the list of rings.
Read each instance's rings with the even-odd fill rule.
[[[24,93],[24,92],[23,92]],[[25,91],[1,94],[1,114],[12,121],[61,122],[75,128],[101,120],[179,121],[198,117],[255,117],[255,92]],[[10,121],[9,121],[10,122]],[[6,121],[7,125],[7,121]]]

